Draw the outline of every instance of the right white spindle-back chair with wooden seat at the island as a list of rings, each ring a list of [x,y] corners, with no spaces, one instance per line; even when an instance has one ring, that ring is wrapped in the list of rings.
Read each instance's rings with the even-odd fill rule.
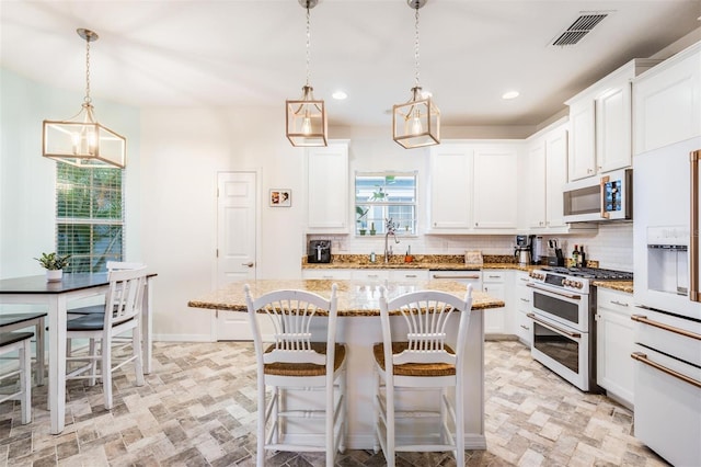
[[[462,357],[471,309],[471,285],[463,299],[423,291],[388,300],[381,288],[382,342],[372,348],[375,451],[382,449],[388,466],[395,465],[397,452],[448,451],[458,466],[464,465],[463,388],[470,375],[464,374]],[[447,339],[456,324],[452,348]]]

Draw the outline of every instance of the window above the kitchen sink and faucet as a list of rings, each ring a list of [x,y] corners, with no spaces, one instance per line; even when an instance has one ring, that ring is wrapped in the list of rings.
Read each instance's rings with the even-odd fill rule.
[[[355,215],[356,235],[384,235],[387,219],[416,235],[416,172],[356,172]]]

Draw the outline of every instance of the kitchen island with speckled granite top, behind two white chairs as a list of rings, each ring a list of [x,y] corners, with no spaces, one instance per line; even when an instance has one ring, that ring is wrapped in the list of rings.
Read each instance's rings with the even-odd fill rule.
[[[451,281],[415,282],[365,282],[325,280],[258,280],[249,281],[251,294],[258,297],[280,288],[296,288],[330,297],[331,286],[338,286],[338,341],[347,345],[347,410],[348,436],[346,445],[350,449],[371,449],[375,445],[372,408],[372,344],[382,340],[380,326],[380,286],[388,288],[388,299],[414,291],[443,291],[463,298],[466,287]],[[246,311],[243,286],[246,282],[233,282],[217,291],[191,300],[194,308]],[[466,448],[484,449],[484,320],[483,310],[503,307],[504,301],[490,297],[483,292],[472,293],[472,310],[463,365],[466,374],[464,412]],[[489,311],[487,311],[489,312]],[[323,319],[323,318],[320,318]],[[392,318],[392,326],[402,326],[401,318]],[[455,343],[456,326],[449,326],[448,341]],[[265,331],[263,331],[265,333]],[[320,334],[321,335],[321,334]],[[425,399],[425,398],[424,398]],[[421,402],[412,399],[411,403]]]

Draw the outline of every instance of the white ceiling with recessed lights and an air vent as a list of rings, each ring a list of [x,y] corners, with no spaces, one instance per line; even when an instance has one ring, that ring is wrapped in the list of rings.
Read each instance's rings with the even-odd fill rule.
[[[298,0],[0,0],[0,64],[136,106],[278,106],[306,82]],[[582,12],[609,12],[576,45],[552,42]],[[445,125],[537,125],[636,57],[701,26],[701,0],[428,0],[420,10],[420,82]],[[311,79],[330,125],[391,125],[414,86],[406,0],[320,0]],[[344,90],[345,101],[332,99]],[[505,91],[520,96],[503,100]],[[77,103],[78,105],[78,103]],[[99,115],[100,109],[97,109]],[[70,113],[70,112],[69,112]]]

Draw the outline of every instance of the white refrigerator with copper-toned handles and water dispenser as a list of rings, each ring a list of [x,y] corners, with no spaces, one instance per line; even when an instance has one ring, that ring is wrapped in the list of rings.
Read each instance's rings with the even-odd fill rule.
[[[633,160],[634,435],[701,466],[701,138]]]

